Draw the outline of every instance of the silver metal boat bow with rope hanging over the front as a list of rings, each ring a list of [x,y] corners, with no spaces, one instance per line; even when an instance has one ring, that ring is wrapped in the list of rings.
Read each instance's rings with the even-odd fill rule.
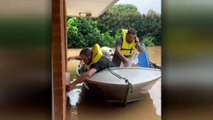
[[[160,78],[158,69],[116,67],[94,74],[85,85],[89,91],[108,102],[129,103],[143,99]]]

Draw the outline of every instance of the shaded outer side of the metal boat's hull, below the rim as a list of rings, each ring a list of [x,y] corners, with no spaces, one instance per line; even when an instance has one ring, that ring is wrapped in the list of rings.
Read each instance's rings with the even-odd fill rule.
[[[88,80],[86,85],[91,92],[107,102],[129,103],[143,99],[156,81],[157,79],[147,83],[135,84],[132,88],[128,85],[102,84]]]

